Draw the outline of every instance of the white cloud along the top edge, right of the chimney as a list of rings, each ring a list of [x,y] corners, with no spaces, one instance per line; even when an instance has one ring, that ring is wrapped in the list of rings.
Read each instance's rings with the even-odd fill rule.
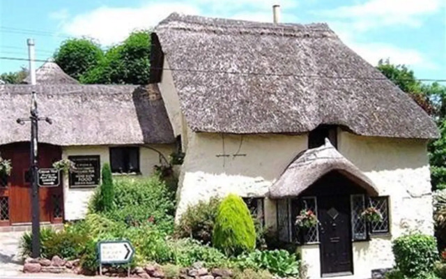
[[[395,24],[419,27],[426,15],[439,12],[444,3],[444,0],[368,0],[314,13],[345,20],[357,31],[367,31]]]

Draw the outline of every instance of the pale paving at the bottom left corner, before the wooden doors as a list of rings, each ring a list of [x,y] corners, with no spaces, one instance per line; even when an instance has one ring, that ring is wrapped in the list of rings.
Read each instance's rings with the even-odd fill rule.
[[[0,232],[0,278],[23,274],[19,243],[23,232]]]

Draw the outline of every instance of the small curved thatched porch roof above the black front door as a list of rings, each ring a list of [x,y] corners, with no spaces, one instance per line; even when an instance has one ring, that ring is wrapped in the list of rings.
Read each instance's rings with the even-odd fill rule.
[[[318,179],[332,171],[343,174],[367,190],[369,195],[378,195],[374,183],[353,163],[344,158],[329,140],[325,140],[325,145],[308,149],[285,169],[279,180],[271,186],[270,197],[273,199],[297,197]]]

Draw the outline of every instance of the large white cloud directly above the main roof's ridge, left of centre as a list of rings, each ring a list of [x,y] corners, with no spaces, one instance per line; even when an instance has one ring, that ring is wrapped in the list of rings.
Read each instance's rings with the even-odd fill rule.
[[[61,22],[61,31],[71,36],[87,36],[102,45],[119,43],[134,29],[154,27],[170,13],[229,17],[242,20],[272,21],[272,4],[280,2],[287,9],[295,8],[295,0],[190,0],[151,1],[134,8],[110,8],[102,6],[88,13],[67,20],[52,13],[50,17]],[[243,11],[243,13],[240,13]],[[284,20],[295,20],[293,15],[283,15]]]

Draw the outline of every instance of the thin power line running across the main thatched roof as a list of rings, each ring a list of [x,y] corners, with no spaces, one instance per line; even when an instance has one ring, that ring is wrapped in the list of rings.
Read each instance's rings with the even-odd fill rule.
[[[15,60],[15,61],[29,61],[27,58],[18,57],[6,57],[0,56],[3,60]],[[36,62],[47,62],[47,60],[35,59]],[[256,73],[256,72],[236,72],[236,71],[226,71],[226,70],[199,70],[199,69],[182,69],[182,68],[157,68],[152,67],[154,70],[171,70],[177,72],[190,72],[190,73],[215,73],[215,74],[228,74],[228,75],[252,75],[252,76],[267,76],[267,77],[300,77],[300,78],[313,78],[313,79],[329,79],[329,80],[389,80],[387,77],[341,77],[335,75],[295,75],[295,74],[284,74],[284,73]],[[446,82],[446,79],[431,79],[431,78],[421,78],[421,79],[393,79],[400,81],[410,81],[417,80],[420,82]]]

